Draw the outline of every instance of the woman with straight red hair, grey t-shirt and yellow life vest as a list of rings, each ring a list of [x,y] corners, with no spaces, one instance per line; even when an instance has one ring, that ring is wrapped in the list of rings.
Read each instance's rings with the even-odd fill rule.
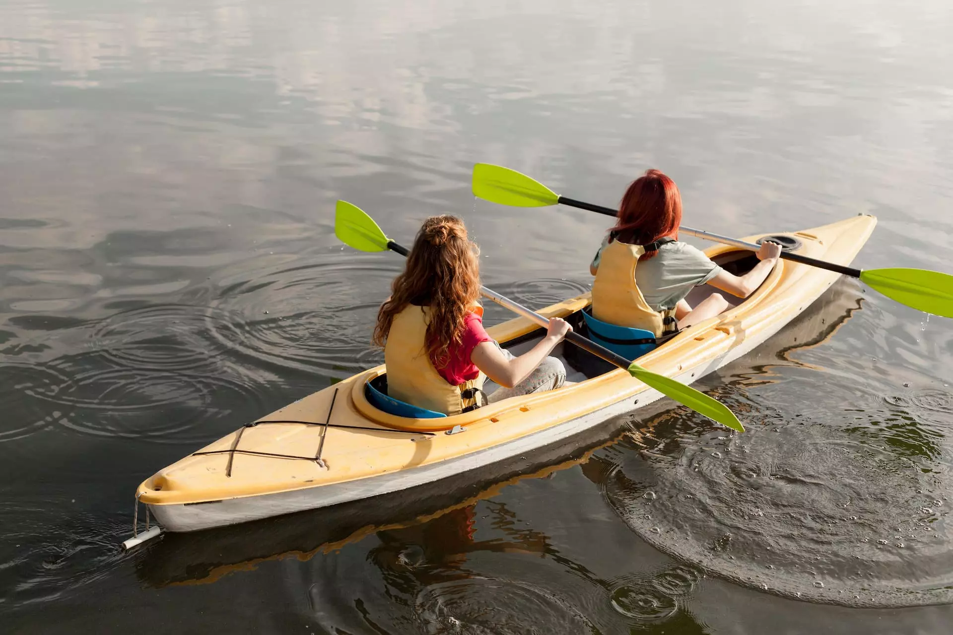
[[[718,315],[729,307],[712,293],[697,307],[685,302],[692,288],[709,284],[746,298],[767,278],[781,247],[765,242],[760,263],[736,276],[702,251],[679,242],[681,195],[675,181],[649,169],[632,182],[589,270],[593,283],[593,317],[618,327],[643,328],[656,337],[677,332]],[[637,266],[638,265],[638,266]]]

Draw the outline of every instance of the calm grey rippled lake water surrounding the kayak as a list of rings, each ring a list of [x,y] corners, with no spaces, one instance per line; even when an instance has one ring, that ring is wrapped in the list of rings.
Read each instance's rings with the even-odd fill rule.
[[[534,307],[606,220],[475,202],[476,162],[609,206],[663,169],[729,235],[873,213],[857,266],[953,270],[951,32],[939,0],[0,2],[0,630],[949,632],[953,323],[852,280],[700,384],[744,435],[666,402],[462,494],[118,545],[152,472],[381,360],[401,262],[341,248],[338,198],[404,242],[462,215]]]

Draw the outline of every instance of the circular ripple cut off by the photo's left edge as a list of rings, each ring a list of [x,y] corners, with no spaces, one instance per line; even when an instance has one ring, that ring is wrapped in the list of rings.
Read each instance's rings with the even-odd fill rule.
[[[42,364],[7,363],[0,366],[0,443],[22,439],[51,427],[63,416],[46,403],[69,381],[67,375]]]

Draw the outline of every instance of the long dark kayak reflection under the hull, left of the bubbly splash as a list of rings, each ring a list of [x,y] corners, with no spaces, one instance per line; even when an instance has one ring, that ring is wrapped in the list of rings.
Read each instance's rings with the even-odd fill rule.
[[[458,516],[465,515],[476,501],[491,498],[522,479],[545,478],[584,464],[593,451],[615,443],[619,434],[630,429],[629,418],[617,417],[563,443],[461,474],[452,488],[444,483],[429,484],[400,496],[353,501],[198,534],[171,533],[136,554],[136,572],[148,585],[206,584],[263,561],[307,560],[373,533],[414,532],[436,523],[444,527],[437,533],[446,540],[460,531],[447,531],[445,526],[462,530]]]

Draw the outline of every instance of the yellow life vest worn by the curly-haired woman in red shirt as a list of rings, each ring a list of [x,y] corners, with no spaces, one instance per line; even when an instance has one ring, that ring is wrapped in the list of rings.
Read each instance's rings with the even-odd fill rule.
[[[476,308],[482,314],[482,308]],[[427,408],[446,415],[459,414],[476,406],[477,394],[486,375],[459,386],[447,383],[430,361],[427,353],[427,325],[430,307],[408,305],[394,316],[384,345],[387,366],[387,393],[412,406]]]

